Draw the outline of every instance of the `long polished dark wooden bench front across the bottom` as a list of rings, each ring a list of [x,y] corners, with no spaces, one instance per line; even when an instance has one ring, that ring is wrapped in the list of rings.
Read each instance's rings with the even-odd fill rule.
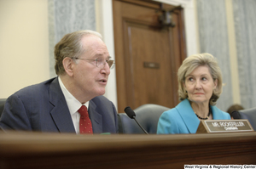
[[[177,169],[185,164],[256,164],[256,132],[183,135],[0,132],[1,169]]]

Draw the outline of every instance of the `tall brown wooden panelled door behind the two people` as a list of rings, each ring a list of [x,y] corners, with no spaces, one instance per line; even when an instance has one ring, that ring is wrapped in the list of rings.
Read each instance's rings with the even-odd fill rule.
[[[160,17],[172,11],[172,23]],[[145,0],[113,0],[118,112],[178,104],[177,69],[185,58],[183,9]]]

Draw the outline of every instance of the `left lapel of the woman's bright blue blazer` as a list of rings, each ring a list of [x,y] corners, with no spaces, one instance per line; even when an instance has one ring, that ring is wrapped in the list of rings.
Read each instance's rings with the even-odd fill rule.
[[[195,133],[199,126],[199,119],[192,110],[188,99],[184,99],[180,104],[177,104],[177,111],[181,115],[184,124],[189,130],[189,133]]]

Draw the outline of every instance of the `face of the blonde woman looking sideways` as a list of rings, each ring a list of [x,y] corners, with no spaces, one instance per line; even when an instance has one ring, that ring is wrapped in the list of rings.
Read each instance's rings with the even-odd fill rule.
[[[218,80],[213,82],[207,65],[195,68],[186,76],[183,86],[188,92],[188,99],[197,104],[209,104],[213,90],[217,87]]]

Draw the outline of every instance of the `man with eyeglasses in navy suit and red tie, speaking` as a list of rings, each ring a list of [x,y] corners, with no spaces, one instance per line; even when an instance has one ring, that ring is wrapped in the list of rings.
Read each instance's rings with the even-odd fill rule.
[[[55,45],[58,75],[7,99],[0,127],[40,132],[117,133],[115,106],[102,96],[113,60],[96,31],[75,31]]]

